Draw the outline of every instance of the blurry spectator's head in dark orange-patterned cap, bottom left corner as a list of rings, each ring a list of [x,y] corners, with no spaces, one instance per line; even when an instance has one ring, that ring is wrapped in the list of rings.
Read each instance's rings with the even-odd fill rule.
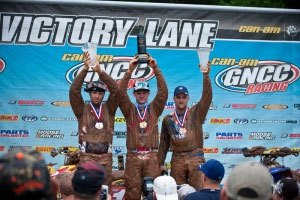
[[[42,155],[28,148],[13,148],[0,158],[2,200],[53,200],[52,184]]]

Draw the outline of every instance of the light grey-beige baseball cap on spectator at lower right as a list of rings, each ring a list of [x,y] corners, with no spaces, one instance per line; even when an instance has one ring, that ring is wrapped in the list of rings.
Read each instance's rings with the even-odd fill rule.
[[[233,168],[225,187],[228,197],[236,200],[269,200],[273,178],[267,167],[245,162]]]

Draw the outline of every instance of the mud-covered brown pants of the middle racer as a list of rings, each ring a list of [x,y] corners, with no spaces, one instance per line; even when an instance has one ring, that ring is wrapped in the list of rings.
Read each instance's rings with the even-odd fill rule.
[[[140,200],[143,177],[155,179],[160,175],[157,152],[127,153],[125,167],[125,200]]]

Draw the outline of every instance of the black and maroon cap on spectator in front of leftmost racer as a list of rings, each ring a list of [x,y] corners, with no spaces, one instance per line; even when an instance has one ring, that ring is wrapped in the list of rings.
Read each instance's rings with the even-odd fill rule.
[[[102,165],[95,161],[84,161],[77,166],[72,178],[74,192],[80,194],[95,194],[106,180]]]

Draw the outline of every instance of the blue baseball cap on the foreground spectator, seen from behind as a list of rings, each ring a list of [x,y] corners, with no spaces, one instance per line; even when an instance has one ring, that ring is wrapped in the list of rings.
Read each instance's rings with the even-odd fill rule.
[[[198,170],[203,172],[206,177],[216,181],[221,181],[225,173],[222,163],[215,159],[210,159],[204,164],[199,165]]]

